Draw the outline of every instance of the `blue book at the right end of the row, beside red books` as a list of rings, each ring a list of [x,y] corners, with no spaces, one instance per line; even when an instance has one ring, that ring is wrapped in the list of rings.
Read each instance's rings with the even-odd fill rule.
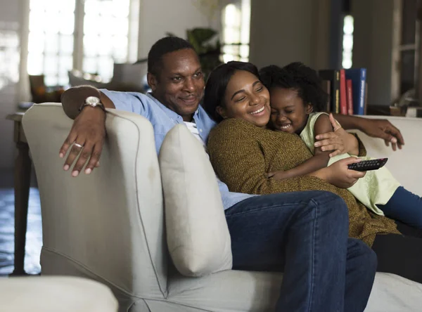
[[[365,115],[366,68],[345,70],[346,79],[352,80],[354,115]]]

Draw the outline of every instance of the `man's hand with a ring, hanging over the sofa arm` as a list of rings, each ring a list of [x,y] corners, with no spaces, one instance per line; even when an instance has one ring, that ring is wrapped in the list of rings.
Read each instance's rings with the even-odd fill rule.
[[[84,165],[85,174],[90,174],[94,167],[98,167],[103,150],[104,138],[106,136],[106,112],[101,108],[85,107],[75,118],[72,129],[60,148],[60,158],[65,157],[70,149],[68,159],[63,169],[68,171],[76,161],[72,169],[72,176],[78,176]],[[80,153],[80,155],[79,155]],[[77,156],[79,155],[79,158]]]

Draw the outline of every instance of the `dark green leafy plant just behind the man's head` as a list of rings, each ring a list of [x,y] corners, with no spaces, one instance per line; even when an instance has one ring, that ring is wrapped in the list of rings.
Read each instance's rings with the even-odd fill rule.
[[[200,65],[205,78],[208,74],[222,63],[220,60],[221,44],[216,38],[218,32],[211,28],[193,28],[186,30],[186,39],[198,53]],[[167,32],[167,36],[174,36]]]

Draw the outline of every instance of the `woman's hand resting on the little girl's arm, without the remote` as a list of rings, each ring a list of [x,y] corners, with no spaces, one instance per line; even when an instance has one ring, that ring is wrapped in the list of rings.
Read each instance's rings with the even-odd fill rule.
[[[333,114],[330,114],[329,119],[334,131],[317,135],[315,138],[320,141],[316,141],[314,143],[314,147],[320,147],[322,151],[333,150],[333,152],[329,155],[330,157],[344,154],[345,152],[352,155],[358,155],[359,142],[357,139],[352,134],[345,131],[340,124],[338,124],[338,122],[334,119]]]

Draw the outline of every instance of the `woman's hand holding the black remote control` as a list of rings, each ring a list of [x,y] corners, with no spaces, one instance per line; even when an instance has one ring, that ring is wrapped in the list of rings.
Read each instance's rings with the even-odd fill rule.
[[[347,165],[361,161],[360,158],[348,157],[331,164],[329,167],[315,171],[311,175],[322,178],[324,181],[338,188],[350,188],[359,178],[364,177],[366,172],[350,170],[347,168]]]

